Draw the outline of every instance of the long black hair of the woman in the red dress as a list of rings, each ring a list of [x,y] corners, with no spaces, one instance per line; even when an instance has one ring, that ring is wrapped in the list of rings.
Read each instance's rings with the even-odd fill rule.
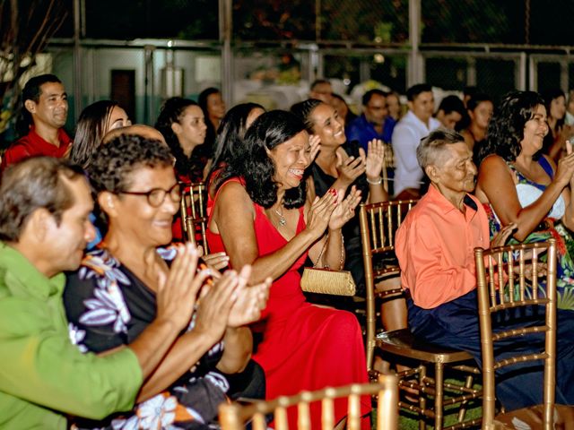
[[[267,151],[303,131],[305,125],[291,112],[272,110],[259,116],[238,145],[238,157],[232,159],[230,165],[223,170],[220,186],[229,177],[242,177],[251,200],[266,209],[270,208],[277,202],[277,184],[273,179],[274,162]],[[283,201],[285,208],[300,208],[305,203],[306,193],[305,181],[287,190]]]

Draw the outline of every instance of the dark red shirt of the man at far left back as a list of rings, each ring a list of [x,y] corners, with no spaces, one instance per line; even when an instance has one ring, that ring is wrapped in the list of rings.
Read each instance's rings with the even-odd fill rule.
[[[45,141],[36,133],[34,127],[30,128],[30,133],[26,134],[4,152],[2,157],[2,170],[7,166],[17,163],[22,159],[28,159],[39,155],[46,155],[48,157],[55,157],[60,159],[64,157],[65,152],[68,150],[72,139],[68,136],[63,128],[57,131],[57,138],[60,141],[60,146],[53,145]]]

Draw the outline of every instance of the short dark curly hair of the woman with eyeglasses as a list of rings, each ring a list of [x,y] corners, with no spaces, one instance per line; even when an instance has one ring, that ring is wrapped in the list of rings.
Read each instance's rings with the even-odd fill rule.
[[[88,169],[96,193],[121,193],[132,185],[132,173],[138,168],[173,166],[169,148],[157,139],[122,134],[112,139],[94,156]]]

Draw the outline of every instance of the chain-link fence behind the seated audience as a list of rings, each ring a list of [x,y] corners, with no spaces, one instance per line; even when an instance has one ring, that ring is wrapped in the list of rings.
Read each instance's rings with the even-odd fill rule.
[[[170,94],[195,98],[207,86],[222,86],[223,1],[82,3],[81,50],[74,51],[69,13],[49,51],[72,101],[81,101],[76,110],[116,94],[113,80],[122,71],[133,83],[133,119],[148,124]],[[494,99],[515,88],[567,91],[574,88],[571,16],[570,0],[233,0],[228,99],[288,108],[308,96],[317,77],[329,79],[354,110],[364,90],[404,94],[416,82],[446,92],[475,86]],[[413,56],[410,31],[417,29]],[[178,88],[169,90],[169,82]]]

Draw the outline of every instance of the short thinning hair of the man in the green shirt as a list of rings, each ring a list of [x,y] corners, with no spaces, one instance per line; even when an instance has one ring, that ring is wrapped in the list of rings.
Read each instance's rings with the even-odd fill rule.
[[[83,177],[83,169],[67,159],[33,157],[4,171],[0,184],[0,240],[18,242],[31,214],[46,209],[57,225],[74,205],[68,182]]]

